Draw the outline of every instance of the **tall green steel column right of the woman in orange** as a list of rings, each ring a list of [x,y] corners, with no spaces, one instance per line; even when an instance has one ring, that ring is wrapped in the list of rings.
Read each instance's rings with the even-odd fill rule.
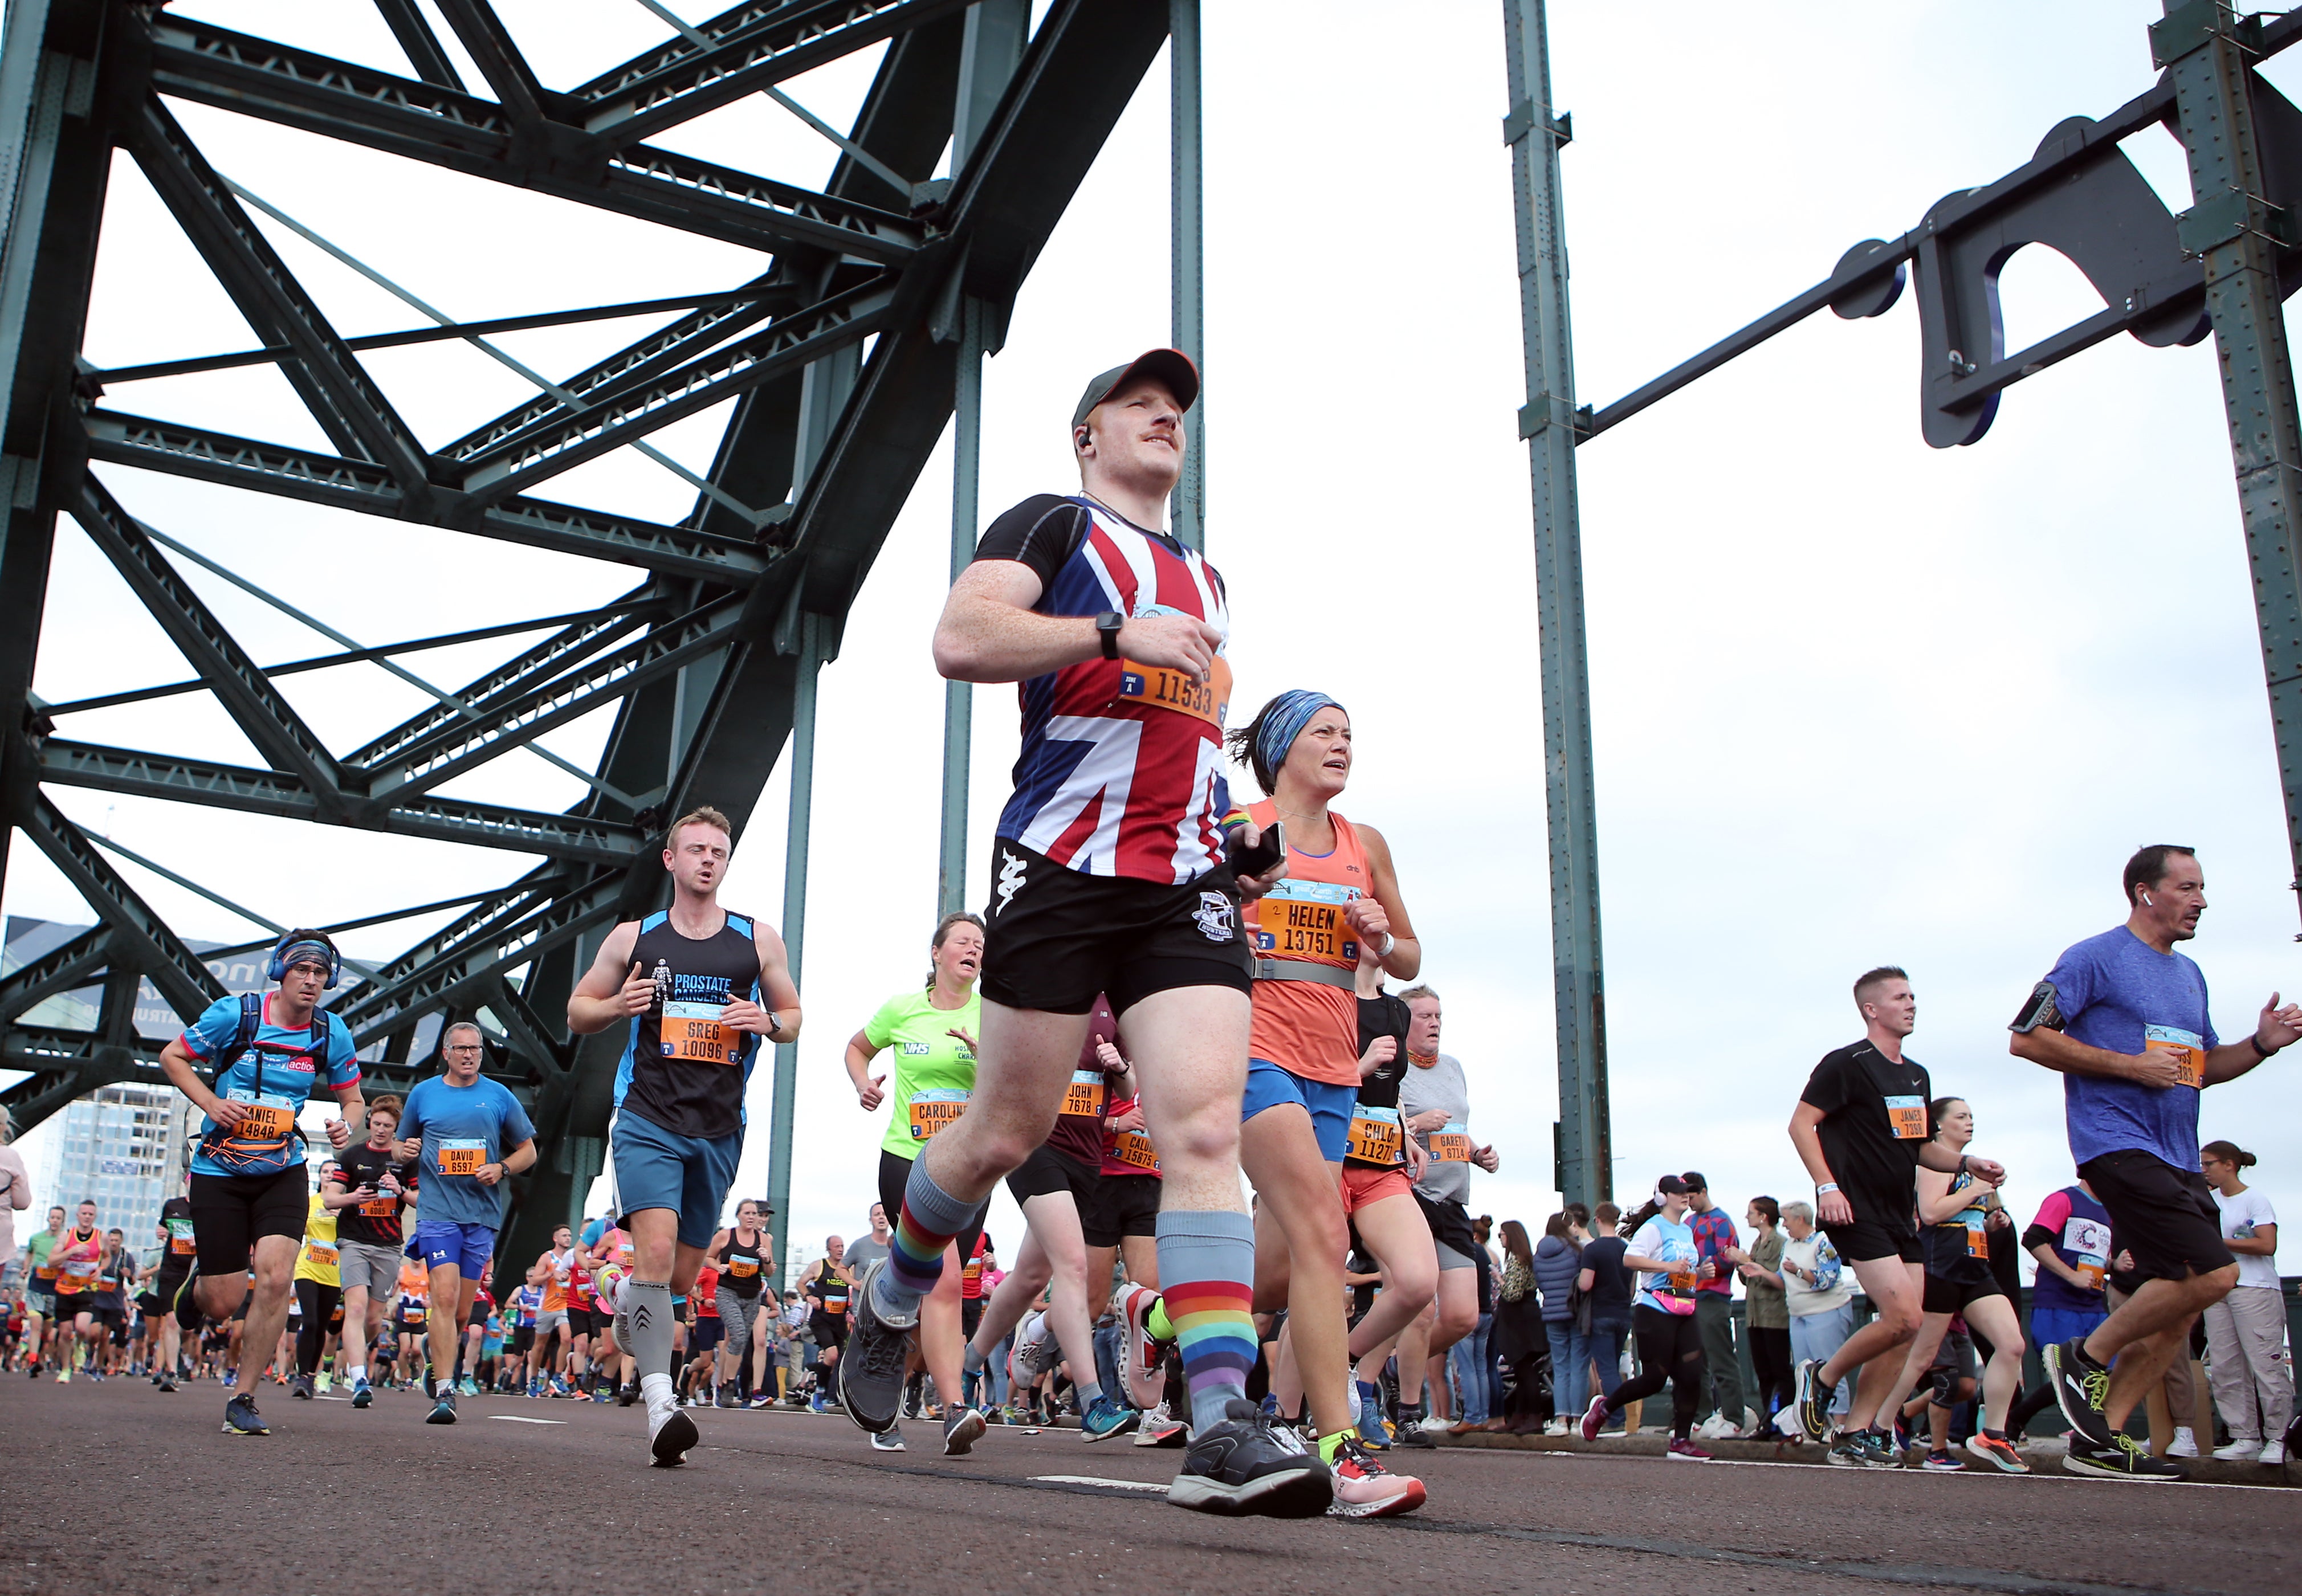
[[[1535,608],[1542,629],[1542,767],[1552,848],[1552,993],[1558,1023],[1558,1188],[1611,1195],[1607,986],[1600,970],[1598,824],[1591,783],[1591,668],[1581,530],[1575,509],[1575,345],[1558,214],[1561,122],[1542,0],[1503,0],[1510,76],[1510,187],[1517,205],[1519,320],[1526,334],[1526,440],[1535,500]]]

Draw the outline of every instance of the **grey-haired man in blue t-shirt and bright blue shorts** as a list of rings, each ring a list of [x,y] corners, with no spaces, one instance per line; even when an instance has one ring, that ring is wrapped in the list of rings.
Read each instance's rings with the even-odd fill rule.
[[[520,1099],[479,1073],[479,1027],[440,1032],[444,1071],[419,1080],[401,1112],[401,1158],[421,1158],[414,1255],[430,1269],[430,1354],[424,1423],[456,1423],[456,1340],[504,1223],[506,1175],[536,1161],[536,1126]]]

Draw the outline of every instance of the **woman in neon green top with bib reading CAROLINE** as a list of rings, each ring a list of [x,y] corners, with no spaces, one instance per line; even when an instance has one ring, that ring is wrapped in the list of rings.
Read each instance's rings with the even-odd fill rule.
[[[983,967],[983,921],[965,912],[946,914],[928,942],[928,960],[925,990],[895,993],[847,1041],[847,1080],[856,1089],[856,1103],[868,1115],[882,1103],[893,1103],[886,1135],[879,1138],[879,1202],[891,1223],[902,1214],[912,1158],[937,1131],[967,1112],[967,1094],[976,1087],[976,1034],[983,1029],[976,972]],[[886,1076],[870,1073],[870,1062],[886,1048],[895,1050],[893,1089],[886,1089]],[[918,1306],[918,1354],[946,1405],[960,1400],[960,1264],[974,1251],[978,1232],[981,1225],[944,1248],[944,1278]],[[962,1421],[962,1428],[946,1430],[944,1453],[965,1453],[981,1432],[983,1419]]]

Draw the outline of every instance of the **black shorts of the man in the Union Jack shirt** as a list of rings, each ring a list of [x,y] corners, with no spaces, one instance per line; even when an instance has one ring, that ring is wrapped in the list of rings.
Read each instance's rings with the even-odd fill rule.
[[[1179,986],[1255,990],[1229,868],[1169,887],[1084,875],[999,838],[985,924],[978,990],[1008,1009],[1087,1013],[1107,993],[1126,1013]]]

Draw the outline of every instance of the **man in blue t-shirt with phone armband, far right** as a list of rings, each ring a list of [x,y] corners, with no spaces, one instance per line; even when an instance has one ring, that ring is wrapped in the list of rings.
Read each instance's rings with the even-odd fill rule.
[[[2198,935],[2205,912],[2198,857],[2171,843],[2143,848],[2127,859],[2125,894],[2127,924],[2065,949],[2030,993],[2012,1052],[2060,1071],[2069,1156],[2143,1280],[2093,1333],[2044,1347],[2074,1430],[2063,1467],[2168,1479],[2180,1469],[2125,1435],[2127,1414],[2187,1347],[2196,1317],[2238,1283],[2198,1175],[2198,1094],[2302,1039],[2302,1006],[2281,1009],[2272,993],[2244,1041],[2219,1041],[2205,974],[2173,951]]]

